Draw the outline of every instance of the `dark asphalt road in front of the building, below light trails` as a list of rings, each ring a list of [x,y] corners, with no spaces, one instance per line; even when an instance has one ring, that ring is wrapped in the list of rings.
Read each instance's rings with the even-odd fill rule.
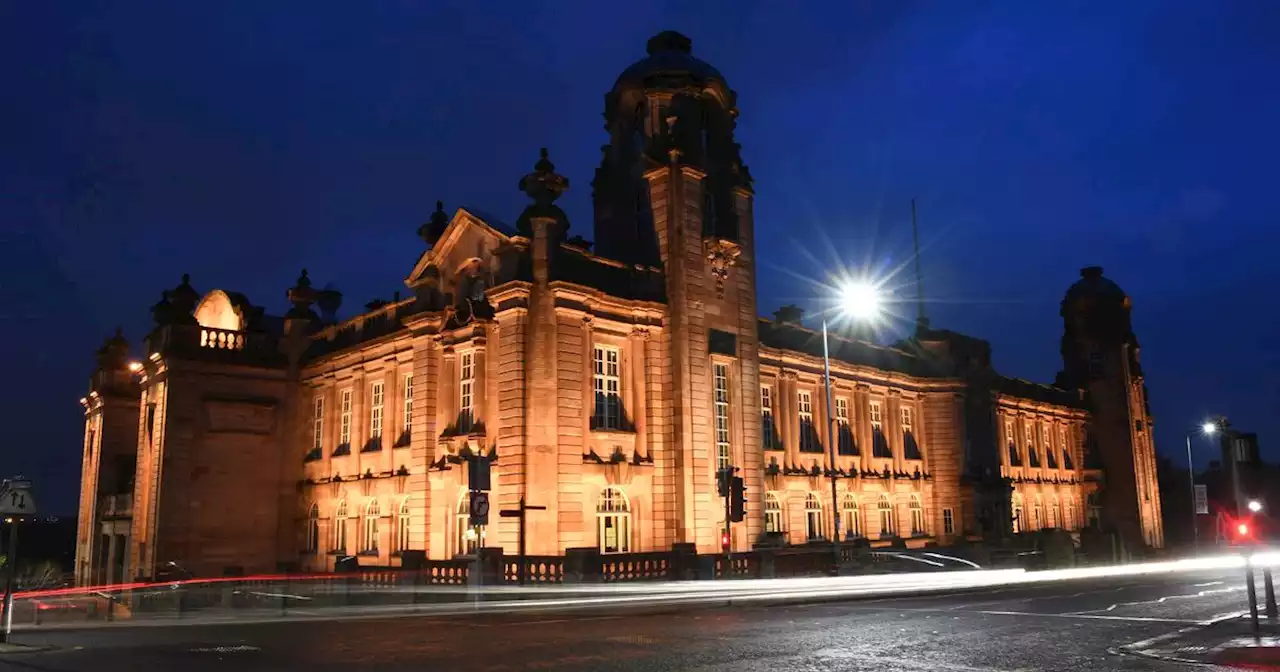
[[[18,632],[49,649],[0,654],[0,669],[1188,669],[1143,655],[1143,643],[1245,608],[1243,576],[1211,571],[667,613]]]

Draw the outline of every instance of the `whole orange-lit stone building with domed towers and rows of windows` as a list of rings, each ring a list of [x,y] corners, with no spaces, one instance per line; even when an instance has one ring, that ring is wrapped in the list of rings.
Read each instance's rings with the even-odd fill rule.
[[[520,498],[547,507],[529,515],[532,554],[709,553],[727,465],[750,499],[739,550],[829,539],[833,509],[873,545],[1094,518],[1161,545],[1119,288],[1089,270],[1068,293],[1065,387],[1004,378],[984,342],[923,320],[893,347],[833,339],[828,431],[819,335],[797,308],[756,308],[736,96],[687,38],[648,51],[605,96],[594,246],[557,207],[568,180],[544,151],[515,224],[438,204],[403,297],[337,319],[340,294],[303,271],[276,316],[183,278],[136,372],[113,339],[84,401],[79,580],[513,553],[516,520],[495,511]],[[472,454],[495,457],[479,534]]]

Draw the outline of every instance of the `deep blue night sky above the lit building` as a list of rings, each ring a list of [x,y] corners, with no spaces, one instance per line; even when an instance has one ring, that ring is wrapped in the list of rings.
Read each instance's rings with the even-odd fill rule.
[[[591,238],[604,93],[668,28],[739,92],[762,312],[909,262],[915,197],[934,326],[1051,381],[1101,265],[1160,449],[1221,412],[1280,456],[1280,3],[442,5],[0,6],[0,472],[46,512],[74,511],[93,351],[138,348],[183,273],[283,312],[306,266],[349,316],[404,289],[438,198],[513,221],[541,146]]]

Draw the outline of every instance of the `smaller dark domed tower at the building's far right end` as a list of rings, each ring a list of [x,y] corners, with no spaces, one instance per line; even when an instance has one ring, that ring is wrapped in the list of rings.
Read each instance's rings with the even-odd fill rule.
[[[1156,452],[1132,301],[1102,269],[1080,270],[1062,298],[1062,383],[1092,413],[1089,448],[1103,468],[1102,522],[1130,544],[1164,545]]]

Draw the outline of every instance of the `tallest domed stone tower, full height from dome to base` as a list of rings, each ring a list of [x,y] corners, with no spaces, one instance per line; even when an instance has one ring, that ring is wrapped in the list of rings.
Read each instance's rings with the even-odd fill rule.
[[[753,192],[733,140],[735,100],[687,37],[654,36],[605,96],[609,145],[593,183],[596,252],[660,268],[666,288],[653,347],[669,362],[658,375],[672,398],[650,431],[669,436],[664,454],[682,476],[657,486],[655,541],[704,553],[719,550],[724,524],[717,466],[741,467],[748,492],[763,492]],[[732,428],[728,443],[712,434],[713,417]],[[733,548],[763,531],[763,512],[748,511],[748,524],[732,526]]]

